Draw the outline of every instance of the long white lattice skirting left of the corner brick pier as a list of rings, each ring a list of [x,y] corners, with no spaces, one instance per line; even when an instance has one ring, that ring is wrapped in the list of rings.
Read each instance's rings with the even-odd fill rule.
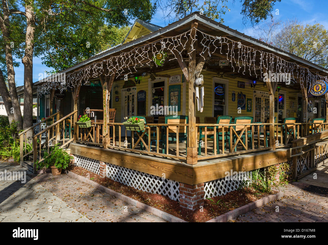
[[[179,182],[126,167],[106,163],[106,176],[138,190],[168,196],[179,200]]]

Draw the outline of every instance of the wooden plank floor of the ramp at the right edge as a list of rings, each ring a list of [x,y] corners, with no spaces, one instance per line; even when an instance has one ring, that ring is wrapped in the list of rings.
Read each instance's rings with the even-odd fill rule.
[[[317,179],[313,178],[314,173],[317,174]],[[298,182],[328,188],[328,161],[318,167],[316,171],[309,173],[308,175],[298,180]]]

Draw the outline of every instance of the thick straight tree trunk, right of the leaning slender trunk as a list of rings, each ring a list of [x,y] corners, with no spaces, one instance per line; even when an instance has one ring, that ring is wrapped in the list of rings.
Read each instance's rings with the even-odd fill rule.
[[[24,64],[24,122],[23,129],[32,126],[33,117],[33,48],[35,33],[35,17],[31,6],[25,6],[27,28],[25,40],[25,54],[22,58]],[[27,136],[32,136],[32,130],[27,132]]]

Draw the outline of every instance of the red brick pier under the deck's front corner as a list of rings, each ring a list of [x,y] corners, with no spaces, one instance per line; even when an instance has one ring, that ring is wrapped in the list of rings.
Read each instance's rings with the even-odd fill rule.
[[[191,210],[204,206],[204,183],[194,186],[180,183],[179,203],[181,207]]]

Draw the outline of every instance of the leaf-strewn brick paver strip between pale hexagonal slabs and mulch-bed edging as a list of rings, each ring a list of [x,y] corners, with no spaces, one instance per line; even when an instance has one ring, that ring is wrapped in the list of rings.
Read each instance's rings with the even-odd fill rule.
[[[39,174],[33,179],[93,222],[166,222],[68,174]]]

